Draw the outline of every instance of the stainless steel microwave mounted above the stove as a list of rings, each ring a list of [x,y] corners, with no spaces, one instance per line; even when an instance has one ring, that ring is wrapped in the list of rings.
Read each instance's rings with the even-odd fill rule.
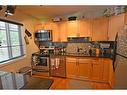
[[[52,41],[52,30],[39,30],[35,32],[36,41]]]

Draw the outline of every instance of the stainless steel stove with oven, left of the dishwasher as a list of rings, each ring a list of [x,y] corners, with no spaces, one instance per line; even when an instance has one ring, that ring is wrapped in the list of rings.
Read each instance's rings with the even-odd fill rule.
[[[37,71],[49,71],[50,54],[54,47],[41,47],[40,52],[32,54],[32,68]]]

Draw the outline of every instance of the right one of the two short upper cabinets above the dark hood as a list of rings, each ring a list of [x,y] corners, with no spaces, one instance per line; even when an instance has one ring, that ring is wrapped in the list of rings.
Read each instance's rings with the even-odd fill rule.
[[[78,29],[80,37],[91,37],[92,20],[80,20]]]

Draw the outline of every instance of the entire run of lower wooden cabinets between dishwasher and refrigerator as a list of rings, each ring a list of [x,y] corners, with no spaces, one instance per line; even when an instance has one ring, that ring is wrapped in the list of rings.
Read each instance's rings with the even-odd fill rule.
[[[109,58],[67,57],[67,78],[111,82],[112,60]]]

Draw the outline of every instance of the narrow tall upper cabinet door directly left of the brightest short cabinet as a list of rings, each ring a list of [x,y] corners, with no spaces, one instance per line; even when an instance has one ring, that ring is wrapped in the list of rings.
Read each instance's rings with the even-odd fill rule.
[[[63,42],[63,41],[67,41],[67,22],[64,21],[64,22],[61,22],[60,25],[60,41]]]

